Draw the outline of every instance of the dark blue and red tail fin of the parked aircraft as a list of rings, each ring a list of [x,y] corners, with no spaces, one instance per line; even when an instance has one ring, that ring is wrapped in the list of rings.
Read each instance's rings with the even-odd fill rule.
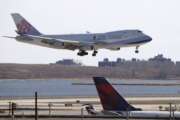
[[[93,77],[101,104],[107,111],[140,110],[131,106],[104,77]]]

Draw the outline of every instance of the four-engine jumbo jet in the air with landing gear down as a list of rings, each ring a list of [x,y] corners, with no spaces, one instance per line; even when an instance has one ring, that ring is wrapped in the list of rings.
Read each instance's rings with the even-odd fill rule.
[[[77,55],[88,55],[92,50],[92,56],[96,56],[98,49],[120,50],[122,47],[134,46],[138,53],[140,45],[150,42],[152,38],[145,35],[140,30],[122,30],[106,33],[87,33],[87,34],[64,34],[64,35],[44,35],[33,27],[20,14],[13,13],[13,20],[16,24],[18,34],[17,41],[40,45],[56,49],[76,50]]]

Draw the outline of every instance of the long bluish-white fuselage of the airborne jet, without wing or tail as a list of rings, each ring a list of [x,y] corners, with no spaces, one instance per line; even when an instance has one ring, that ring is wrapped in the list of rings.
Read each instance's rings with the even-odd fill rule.
[[[152,40],[151,37],[139,30],[123,30],[93,34],[41,35],[40,37],[52,38],[52,41],[31,38],[26,35],[17,37],[17,40],[56,49],[68,49],[68,45],[65,45],[66,43],[63,42],[55,42],[53,39],[73,40],[81,43],[79,47],[82,50],[102,48],[119,50],[121,47],[140,46]],[[72,46],[69,45],[69,50],[79,49],[77,46],[74,46],[74,48]]]

